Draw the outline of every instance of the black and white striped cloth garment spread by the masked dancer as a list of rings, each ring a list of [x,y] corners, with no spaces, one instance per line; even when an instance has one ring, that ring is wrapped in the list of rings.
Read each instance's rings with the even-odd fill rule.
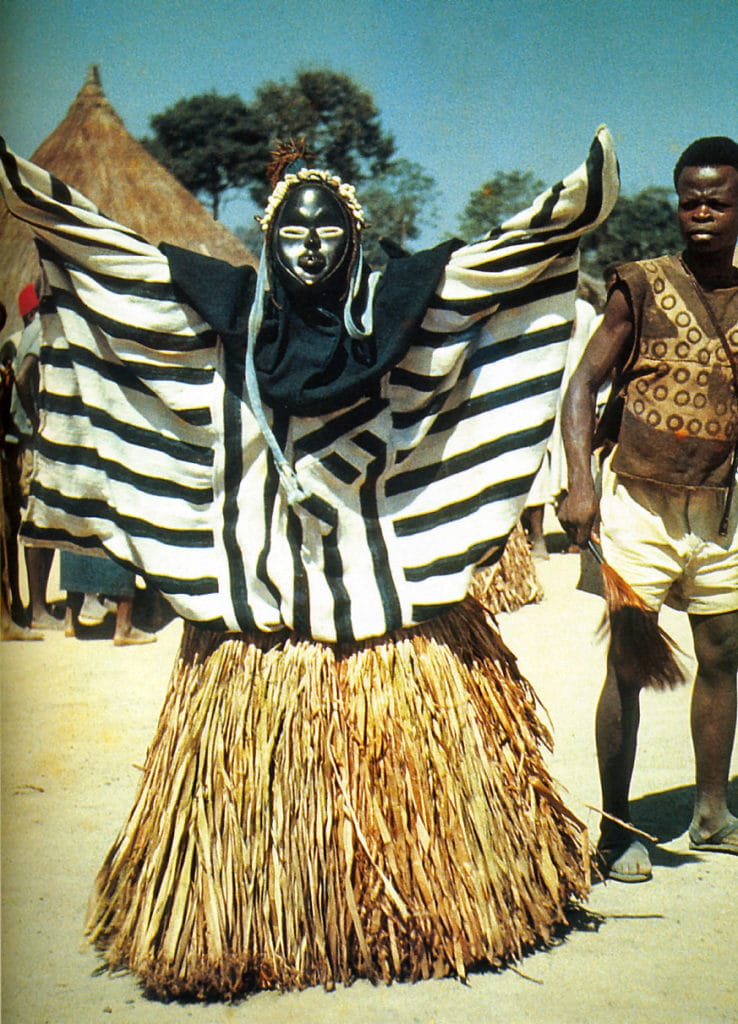
[[[265,408],[309,496],[290,505],[242,370],[176,297],[165,256],[3,146],[5,199],[48,283],[23,534],[103,549],[211,629],[345,642],[462,600],[542,459],[577,242],[617,187],[603,127],[578,170],[453,252],[379,394],[315,418]]]

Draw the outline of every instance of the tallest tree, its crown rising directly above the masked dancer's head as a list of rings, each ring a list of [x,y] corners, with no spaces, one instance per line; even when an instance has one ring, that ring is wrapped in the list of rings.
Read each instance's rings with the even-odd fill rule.
[[[372,96],[348,76],[328,70],[301,71],[294,82],[266,82],[252,106],[269,125],[269,141],[304,136],[317,167],[360,185],[386,170],[395,151]],[[255,174],[251,194],[263,205],[269,194],[265,169]]]

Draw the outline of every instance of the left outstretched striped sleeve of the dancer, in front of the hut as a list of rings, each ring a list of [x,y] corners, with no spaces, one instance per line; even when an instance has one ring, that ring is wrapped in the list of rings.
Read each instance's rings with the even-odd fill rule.
[[[4,143],[0,185],[34,232],[45,278],[40,429],[21,535],[103,550],[181,614],[222,622],[214,332],[182,302],[156,246]]]

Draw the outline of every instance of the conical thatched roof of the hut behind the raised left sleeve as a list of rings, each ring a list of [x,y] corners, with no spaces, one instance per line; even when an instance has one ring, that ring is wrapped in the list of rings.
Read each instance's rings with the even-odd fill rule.
[[[67,117],[31,158],[155,245],[171,242],[229,263],[255,257],[126,130],[93,66]],[[19,327],[16,298],[38,274],[30,230],[0,204],[0,301],[8,331]]]

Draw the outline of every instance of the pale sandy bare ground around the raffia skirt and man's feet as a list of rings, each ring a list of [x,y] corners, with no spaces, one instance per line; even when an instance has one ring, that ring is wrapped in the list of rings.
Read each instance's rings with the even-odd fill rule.
[[[594,836],[602,602],[575,589],[577,556],[536,564],[544,601],[501,615],[500,626],[550,715],[553,772]],[[684,616],[663,623],[689,651]],[[738,858],[697,856],[686,837],[689,687],[643,700],[633,797],[637,824],[660,840],[653,881],[595,886],[561,940],[515,969],[466,984],[262,992],[230,1006],[157,1002],[130,976],[95,976],[98,962],[82,945],[87,896],[132,804],[180,633],[175,621],[142,647],[62,633],[0,646],[3,1024],[738,1021]],[[734,811],[737,773],[734,754]]]

